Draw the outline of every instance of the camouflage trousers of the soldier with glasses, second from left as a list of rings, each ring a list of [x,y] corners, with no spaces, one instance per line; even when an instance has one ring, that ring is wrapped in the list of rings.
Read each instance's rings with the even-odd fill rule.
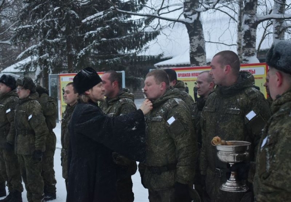
[[[44,181],[41,177],[41,160],[33,155],[18,154],[18,161],[28,202],[41,202],[44,198]]]

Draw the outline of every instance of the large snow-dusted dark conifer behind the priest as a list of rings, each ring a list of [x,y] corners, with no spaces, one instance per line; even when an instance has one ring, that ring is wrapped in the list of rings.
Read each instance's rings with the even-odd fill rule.
[[[138,3],[146,3],[146,0]],[[147,31],[147,18],[131,19],[117,13],[107,0],[24,0],[13,42],[33,42],[18,59],[31,58],[21,67],[39,72],[45,86],[49,73],[77,72],[91,66],[101,70],[125,70],[139,62],[160,59],[142,56],[146,44],[159,31]],[[137,2],[116,0],[132,10]],[[95,15],[98,13],[98,15]],[[129,69],[129,68],[128,68]]]

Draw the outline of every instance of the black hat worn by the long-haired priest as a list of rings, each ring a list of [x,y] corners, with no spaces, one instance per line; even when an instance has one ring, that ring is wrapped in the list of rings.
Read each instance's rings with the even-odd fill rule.
[[[79,95],[99,84],[100,82],[102,82],[101,78],[92,67],[86,67],[82,69],[73,79],[74,88],[79,93]]]

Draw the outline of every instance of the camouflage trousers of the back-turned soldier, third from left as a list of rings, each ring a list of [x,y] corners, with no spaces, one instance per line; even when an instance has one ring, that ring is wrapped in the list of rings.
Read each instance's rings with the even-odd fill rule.
[[[55,171],[53,169],[53,156],[56,150],[56,135],[54,132],[50,132],[47,136],[46,141],[46,151],[43,153],[42,157],[42,172],[41,176],[44,180],[44,193],[56,193],[56,178]]]

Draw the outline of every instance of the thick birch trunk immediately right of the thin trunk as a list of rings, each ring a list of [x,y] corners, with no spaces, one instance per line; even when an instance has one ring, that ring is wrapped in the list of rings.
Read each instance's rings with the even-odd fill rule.
[[[242,63],[259,62],[256,52],[258,0],[244,0],[242,21]]]

